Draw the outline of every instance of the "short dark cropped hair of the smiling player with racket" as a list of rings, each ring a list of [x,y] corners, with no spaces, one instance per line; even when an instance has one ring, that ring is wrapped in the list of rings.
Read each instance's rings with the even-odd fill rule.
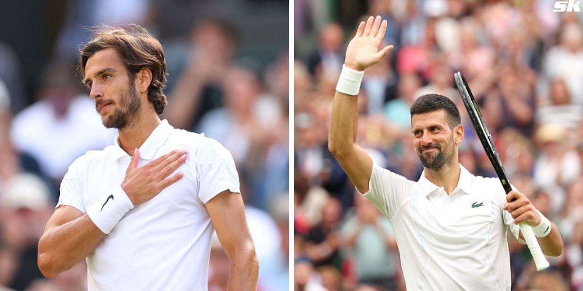
[[[455,103],[449,100],[449,98],[439,94],[425,94],[417,98],[415,102],[413,102],[413,105],[411,105],[411,118],[416,114],[441,109],[445,110],[445,119],[447,119],[450,128],[462,124],[462,119],[459,117],[459,110],[458,107],[455,106]]]

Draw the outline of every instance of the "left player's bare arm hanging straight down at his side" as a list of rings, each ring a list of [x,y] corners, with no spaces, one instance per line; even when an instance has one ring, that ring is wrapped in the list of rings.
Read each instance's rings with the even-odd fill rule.
[[[259,263],[251,239],[241,194],[229,190],[205,204],[220,243],[229,257],[228,290],[255,290]]]

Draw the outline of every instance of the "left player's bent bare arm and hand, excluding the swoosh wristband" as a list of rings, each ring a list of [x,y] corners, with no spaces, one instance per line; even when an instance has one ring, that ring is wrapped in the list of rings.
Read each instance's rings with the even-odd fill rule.
[[[181,173],[166,177],[185,159],[185,152],[174,150],[137,168],[139,152],[136,150],[121,187],[134,205],[150,200],[182,178]],[[52,278],[87,257],[104,236],[89,215],[61,205],[52,214],[38,242],[38,268],[45,277]]]

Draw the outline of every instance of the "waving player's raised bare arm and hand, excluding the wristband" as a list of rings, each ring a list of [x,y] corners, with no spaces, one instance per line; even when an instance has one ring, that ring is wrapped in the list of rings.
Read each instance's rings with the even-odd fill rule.
[[[386,29],[387,21],[384,20],[381,23],[380,16],[376,19],[369,17],[366,24],[361,22],[356,36],[346,49],[345,65],[350,69],[361,71],[387,55],[392,46],[378,50]],[[338,160],[356,188],[364,193],[368,191],[373,161],[356,143],[358,119],[356,98],[356,96],[336,91],[332,104],[328,150]]]

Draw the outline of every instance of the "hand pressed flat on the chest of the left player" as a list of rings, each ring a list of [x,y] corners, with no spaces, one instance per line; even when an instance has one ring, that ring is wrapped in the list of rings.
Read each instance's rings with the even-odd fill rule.
[[[140,168],[138,168],[139,157],[140,154],[136,148],[134,157],[125,171],[124,182],[121,183],[121,188],[124,189],[125,194],[134,205],[150,200],[162,189],[178,181],[184,175],[182,172],[178,172],[168,177],[186,161],[187,152],[185,150],[173,150]]]

